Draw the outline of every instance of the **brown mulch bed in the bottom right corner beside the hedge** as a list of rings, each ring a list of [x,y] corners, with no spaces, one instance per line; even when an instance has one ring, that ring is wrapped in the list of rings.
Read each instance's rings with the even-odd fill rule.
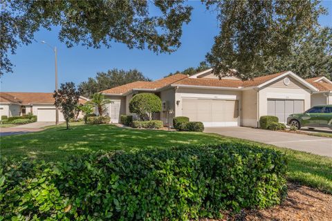
[[[224,220],[330,221],[332,220],[332,195],[307,186],[288,184],[288,196],[281,205],[262,210],[243,210],[232,217],[227,215]]]

